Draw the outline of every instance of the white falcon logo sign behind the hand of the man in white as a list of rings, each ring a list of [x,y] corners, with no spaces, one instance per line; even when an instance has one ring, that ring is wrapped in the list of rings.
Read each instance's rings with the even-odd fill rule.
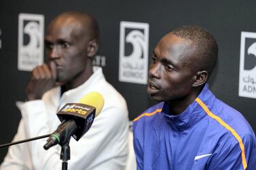
[[[31,71],[43,64],[44,16],[18,16],[18,70]]]

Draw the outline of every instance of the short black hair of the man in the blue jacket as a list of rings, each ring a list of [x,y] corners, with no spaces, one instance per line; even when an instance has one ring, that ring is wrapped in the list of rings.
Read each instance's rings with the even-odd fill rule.
[[[200,26],[182,26],[171,32],[177,37],[191,40],[196,45],[196,65],[200,70],[206,70],[210,76],[218,58],[218,45],[213,35]]]

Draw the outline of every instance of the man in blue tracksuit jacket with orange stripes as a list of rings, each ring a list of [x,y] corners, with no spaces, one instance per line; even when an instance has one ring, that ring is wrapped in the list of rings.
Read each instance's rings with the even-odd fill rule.
[[[199,26],[176,28],[160,40],[147,87],[160,103],[134,119],[138,169],[256,169],[253,129],[206,83],[217,51]]]

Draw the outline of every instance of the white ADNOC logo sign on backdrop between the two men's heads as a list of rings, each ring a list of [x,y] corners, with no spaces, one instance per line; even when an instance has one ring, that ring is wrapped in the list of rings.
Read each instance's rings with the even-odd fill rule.
[[[119,81],[147,84],[149,24],[120,22]]]

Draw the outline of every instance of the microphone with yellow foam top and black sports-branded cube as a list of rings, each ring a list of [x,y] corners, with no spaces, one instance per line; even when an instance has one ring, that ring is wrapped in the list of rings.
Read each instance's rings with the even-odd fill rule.
[[[62,123],[50,135],[43,148],[48,150],[56,144],[66,144],[71,136],[78,141],[90,129],[95,117],[103,109],[103,105],[103,96],[96,91],[84,95],[79,103],[65,104],[57,113]]]

